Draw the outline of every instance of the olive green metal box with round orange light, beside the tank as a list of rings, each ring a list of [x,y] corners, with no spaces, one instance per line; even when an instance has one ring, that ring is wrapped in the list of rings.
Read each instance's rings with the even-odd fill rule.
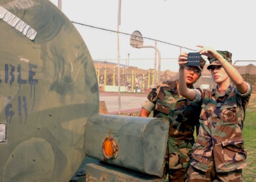
[[[85,126],[85,153],[117,166],[150,175],[163,175],[169,122],[96,114]],[[108,141],[111,152],[107,150]]]

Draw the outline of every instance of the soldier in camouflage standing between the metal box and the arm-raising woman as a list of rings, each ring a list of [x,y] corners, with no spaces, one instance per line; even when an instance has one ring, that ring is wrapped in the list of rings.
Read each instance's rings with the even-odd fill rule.
[[[186,66],[185,79],[188,88],[200,78],[205,60],[200,66]],[[140,116],[148,117],[154,111],[154,117],[169,120],[168,147],[164,177],[169,181],[183,181],[190,166],[191,148],[194,144],[194,128],[199,127],[201,103],[190,103],[179,95],[178,80],[165,81],[152,89],[148,99],[142,104]],[[161,134],[161,133],[159,133]]]

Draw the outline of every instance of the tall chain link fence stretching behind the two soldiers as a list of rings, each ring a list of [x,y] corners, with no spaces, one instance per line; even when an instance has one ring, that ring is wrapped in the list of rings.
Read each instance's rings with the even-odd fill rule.
[[[77,29],[83,31],[83,38],[86,40],[90,53],[94,59],[98,56],[99,48],[102,50],[102,55],[108,55],[108,52],[114,51],[110,47],[116,47],[116,31],[101,29],[99,27],[93,27],[78,22],[76,24]],[[98,32],[97,39],[91,39],[91,32]],[[143,33],[144,34],[144,33]],[[147,33],[145,33],[146,35]],[[120,83],[120,95],[118,95],[118,67],[117,60],[113,59],[101,59],[94,60],[94,67],[98,76],[99,84],[99,99],[105,101],[108,109],[108,113],[118,113],[119,96],[121,101],[121,112],[132,112],[133,110],[140,110],[141,103],[143,103],[148,95],[149,90],[155,86],[156,83],[164,81],[166,79],[177,79],[178,73],[171,72],[171,70],[177,69],[177,57],[180,52],[193,52],[195,50],[183,47],[169,42],[155,40],[147,37],[143,37],[144,45],[156,45],[157,49],[161,52],[161,70],[160,76],[158,76],[154,52],[148,49],[134,49],[130,46],[130,34],[119,32],[119,40],[123,42],[120,44],[120,67],[119,67],[119,83]],[[179,42],[179,41],[178,41]],[[97,45],[97,46],[94,46]],[[109,49],[106,49],[109,48]],[[167,50],[167,51],[166,51]],[[139,53],[139,54],[138,54]],[[125,55],[128,55],[128,59]],[[129,55],[140,56],[139,59],[130,59]],[[141,56],[146,55],[147,58],[142,59]],[[107,57],[107,56],[106,56]],[[144,56],[143,56],[144,57]],[[115,62],[115,63],[112,63]],[[139,64],[145,64],[151,69],[143,70],[138,69]],[[235,61],[233,63],[243,78],[251,84],[252,97],[255,95],[255,75],[256,70],[255,61]],[[243,66],[242,66],[243,65]],[[159,77],[159,78],[158,78]],[[205,69],[201,78],[194,84],[194,87],[212,88],[215,86],[210,72]],[[250,105],[252,105],[250,101]]]

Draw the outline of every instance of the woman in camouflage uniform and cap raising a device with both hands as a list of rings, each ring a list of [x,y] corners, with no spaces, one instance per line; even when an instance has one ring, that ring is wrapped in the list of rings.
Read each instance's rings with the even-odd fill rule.
[[[204,45],[198,47],[201,55],[208,56],[207,69],[217,86],[201,92],[188,89],[184,76],[187,53],[180,54],[180,94],[193,103],[202,101],[199,135],[192,149],[186,181],[243,181],[246,150],[242,129],[251,86],[232,66],[231,53]]]

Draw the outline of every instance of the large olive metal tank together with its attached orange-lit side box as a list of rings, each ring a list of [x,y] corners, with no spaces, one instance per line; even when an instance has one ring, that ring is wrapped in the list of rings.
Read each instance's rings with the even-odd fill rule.
[[[169,122],[98,113],[90,53],[54,4],[0,0],[0,40],[1,182],[69,181],[86,155],[103,161],[87,181],[163,181]]]

